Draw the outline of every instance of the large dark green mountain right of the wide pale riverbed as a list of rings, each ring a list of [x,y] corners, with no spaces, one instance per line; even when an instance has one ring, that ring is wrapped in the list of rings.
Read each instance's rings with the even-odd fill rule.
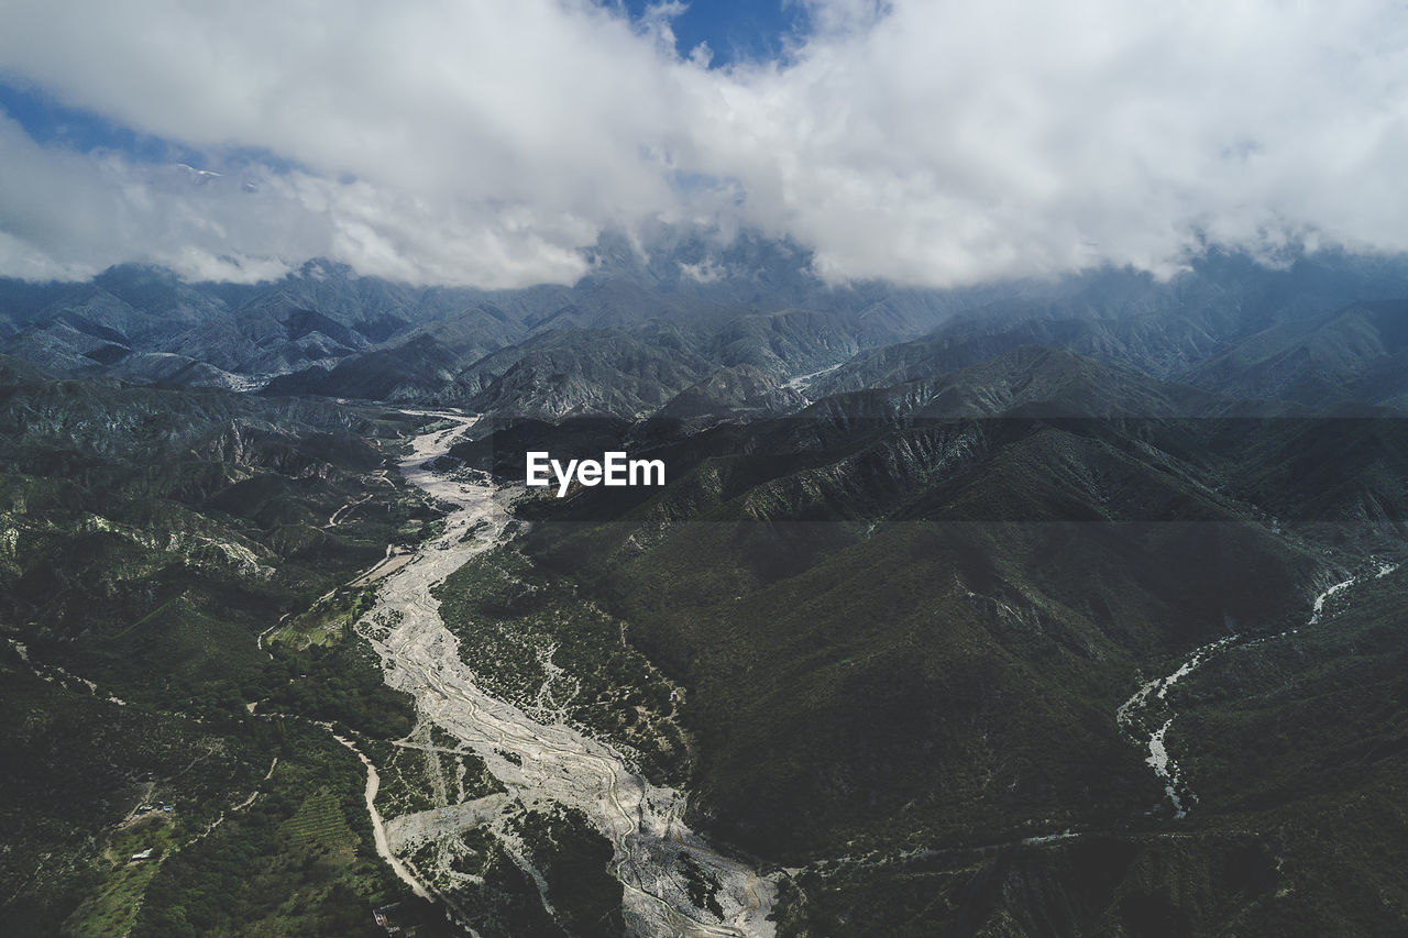
[[[486,444],[521,477],[518,454],[545,432],[507,425]],[[524,551],[689,687],[694,820],[803,868],[781,934],[1401,921],[1318,879],[1360,865],[1329,859],[1340,835],[1305,820],[1374,815],[1350,807],[1362,796],[1387,810],[1408,753],[1393,731],[1353,720],[1376,759],[1364,787],[1288,742],[1267,756],[1278,787],[1247,786],[1256,762],[1235,755],[1257,746],[1257,727],[1276,732],[1247,694],[1280,694],[1304,732],[1333,734],[1343,704],[1287,697],[1274,675],[1347,694],[1324,675],[1387,669],[1398,654],[1383,632],[1378,663],[1362,663],[1353,641],[1305,625],[1336,568],[1401,554],[1408,437],[1395,411],[1257,408],[1019,348],[786,418],[698,431],[662,415],[598,432],[587,449],[663,459],[666,487],[528,501]],[[1183,820],[1117,711],[1148,675],[1229,635],[1245,638],[1219,665],[1228,676],[1170,697],[1198,714],[1178,724],[1198,799]],[[1294,651],[1304,644],[1335,651],[1312,659]],[[1263,672],[1267,661],[1280,670]],[[1376,673],[1353,696],[1393,708],[1404,683]],[[1240,721],[1232,735],[1224,720]],[[1305,784],[1284,782],[1311,762]],[[1288,832],[1270,832],[1273,818]],[[1394,851],[1404,828],[1356,830]],[[1197,899],[1164,901],[1191,882]],[[1290,883],[1295,896],[1271,901]]]

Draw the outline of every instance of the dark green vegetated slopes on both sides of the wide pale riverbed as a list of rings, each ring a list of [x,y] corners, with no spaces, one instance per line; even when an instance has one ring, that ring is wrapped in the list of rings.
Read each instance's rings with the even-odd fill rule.
[[[534,373],[494,393],[551,404]],[[415,910],[325,721],[379,766],[387,815],[479,820],[410,862],[480,934],[621,932],[611,845],[507,797],[352,628],[358,570],[439,528],[367,444],[411,421],[6,380],[8,928],[372,935],[373,907]],[[1408,572],[1307,618],[1340,568],[1401,554],[1408,442],[1397,420],[1226,407],[1026,348],[803,421],[612,423],[667,455],[669,487],[522,506],[529,534],[448,577],[442,613],[487,690],[797,868],[783,938],[1404,934]],[[598,441],[522,438],[556,432]],[[1231,632],[1167,697],[1174,818],[1115,708]]]

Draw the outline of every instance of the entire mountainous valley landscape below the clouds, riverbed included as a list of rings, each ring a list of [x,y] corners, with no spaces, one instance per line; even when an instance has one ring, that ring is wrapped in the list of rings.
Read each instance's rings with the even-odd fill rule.
[[[1346,297],[1398,268],[901,297],[796,263],[762,310],[625,268],[124,269],[94,289],[194,311],[94,363],[70,300],[113,300],[31,292],[6,348],[61,375],[0,356],[7,914],[1393,934],[1400,306]],[[524,487],[542,451],[663,484]]]

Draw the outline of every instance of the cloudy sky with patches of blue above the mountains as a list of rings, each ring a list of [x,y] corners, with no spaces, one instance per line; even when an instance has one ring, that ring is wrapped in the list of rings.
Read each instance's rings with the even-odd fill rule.
[[[1384,0],[3,0],[0,275],[572,283],[742,230],[949,287],[1408,251]]]

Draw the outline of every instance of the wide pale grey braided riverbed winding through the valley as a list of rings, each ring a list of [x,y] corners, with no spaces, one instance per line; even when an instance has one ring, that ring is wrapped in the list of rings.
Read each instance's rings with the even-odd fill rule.
[[[624,887],[624,914],[632,934],[772,935],[767,914],[777,892],[774,877],[718,853],[690,831],[681,820],[683,793],[650,784],[605,742],[569,725],[535,721],[479,686],[431,590],[503,539],[513,493],[496,487],[483,473],[460,470],[452,477],[425,465],[445,454],[476,418],[408,413],[455,424],[417,437],[411,455],[400,465],[407,482],[451,513],[439,537],[380,580],[376,606],[358,623],[358,631],[380,656],[387,684],[411,694],[421,718],[483,759],[508,793],[383,820],[372,803],[375,768],[367,763],[367,807],[373,828],[382,834],[379,852],[384,846],[383,856],[420,893],[434,889],[436,879],[453,880],[456,875],[449,869],[414,869],[408,858],[425,844],[487,825],[538,884],[551,910],[543,879],[507,827],[504,807],[514,800],[528,807],[556,803],[582,811],[611,842],[611,872]],[[367,762],[365,756],[362,761]],[[701,872],[714,887],[722,915],[690,897],[690,876],[697,879]]]

